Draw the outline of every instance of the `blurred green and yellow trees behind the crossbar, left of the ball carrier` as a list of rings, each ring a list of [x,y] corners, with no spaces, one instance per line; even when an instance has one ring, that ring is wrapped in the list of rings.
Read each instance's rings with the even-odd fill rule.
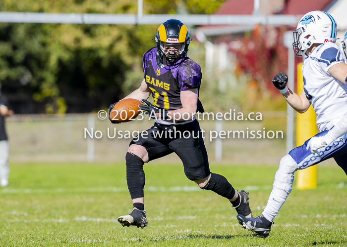
[[[182,6],[190,13],[210,13],[221,2],[145,1],[144,13],[176,13]],[[0,11],[135,14],[137,1],[2,0]],[[18,94],[29,90],[46,113],[106,107],[139,86],[142,54],[155,45],[156,28],[0,23],[0,81],[17,84]]]

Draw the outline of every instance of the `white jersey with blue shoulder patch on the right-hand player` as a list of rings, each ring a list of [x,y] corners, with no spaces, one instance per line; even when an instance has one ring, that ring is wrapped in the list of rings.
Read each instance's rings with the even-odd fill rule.
[[[347,114],[347,85],[328,73],[345,58],[335,43],[323,43],[315,48],[302,66],[306,98],[317,114],[321,131],[330,129]]]

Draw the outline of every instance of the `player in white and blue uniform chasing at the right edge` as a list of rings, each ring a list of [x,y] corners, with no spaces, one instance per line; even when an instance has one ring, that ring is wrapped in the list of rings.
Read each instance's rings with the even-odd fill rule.
[[[305,14],[294,31],[293,43],[296,55],[305,58],[304,89],[300,94],[291,91],[286,86],[288,76],[283,72],[272,81],[297,112],[304,113],[313,105],[321,132],[281,159],[261,216],[236,216],[243,228],[259,237],[269,235],[274,217],[291,192],[294,171],[334,158],[347,174],[347,64],[335,44],[336,33],[337,25],[330,14],[323,11]]]

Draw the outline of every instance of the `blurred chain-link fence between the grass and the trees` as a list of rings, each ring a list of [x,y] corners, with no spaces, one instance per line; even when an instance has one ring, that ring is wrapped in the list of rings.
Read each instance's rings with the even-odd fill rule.
[[[219,138],[214,138],[218,134],[216,120],[205,118],[199,123],[205,130],[204,141],[210,163],[213,164],[216,162],[215,144]],[[274,165],[278,164],[286,154],[286,112],[262,113],[261,121],[224,120],[222,123],[222,130],[226,134],[221,135],[222,138],[225,138],[220,139],[222,160],[219,163]],[[10,143],[10,162],[122,163],[132,136],[136,135],[137,131],[141,132],[152,125],[153,120],[148,120],[148,117],[142,121],[111,124],[108,119],[98,119],[96,113],[63,116],[14,115],[7,118],[6,121]],[[91,127],[93,127],[93,131]],[[251,138],[253,137],[252,130],[255,138]],[[273,131],[275,135],[278,131],[282,131],[283,138],[281,132],[279,132],[278,138],[269,138],[272,136],[271,132],[269,137],[267,136],[269,131]],[[93,138],[90,138],[92,133],[94,133]],[[259,138],[259,133],[261,138]],[[265,138],[263,138],[264,136]],[[180,160],[176,155],[171,154],[170,158],[162,158],[153,162],[179,163]]]

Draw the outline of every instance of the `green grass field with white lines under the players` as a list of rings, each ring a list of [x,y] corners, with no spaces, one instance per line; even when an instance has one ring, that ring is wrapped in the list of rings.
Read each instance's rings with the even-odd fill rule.
[[[277,167],[213,165],[262,212]],[[122,164],[11,164],[0,189],[0,246],[347,246],[347,177],[318,167],[318,186],[293,189],[267,239],[238,225],[231,204],[185,178],[181,165],[145,165],[148,228],[121,227],[132,207]]]

